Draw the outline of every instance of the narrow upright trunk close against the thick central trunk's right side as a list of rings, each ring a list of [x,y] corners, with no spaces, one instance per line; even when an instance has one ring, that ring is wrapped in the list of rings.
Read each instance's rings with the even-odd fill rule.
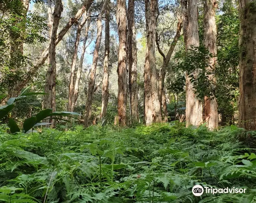
[[[137,91],[137,46],[134,18],[134,0],[128,1],[128,48],[129,48],[129,93],[131,123],[140,121],[138,116]]]

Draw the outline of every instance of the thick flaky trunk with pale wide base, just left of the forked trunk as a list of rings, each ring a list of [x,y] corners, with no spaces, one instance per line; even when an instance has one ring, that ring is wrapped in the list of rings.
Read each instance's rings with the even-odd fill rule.
[[[157,10],[157,0],[145,0],[147,46],[144,66],[144,122],[146,125],[162,121],[161,106],[158,100],[158,81],[155,66]]]

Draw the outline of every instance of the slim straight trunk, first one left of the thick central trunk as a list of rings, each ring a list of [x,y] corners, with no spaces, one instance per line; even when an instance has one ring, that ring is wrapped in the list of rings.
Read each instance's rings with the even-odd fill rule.
[[[103,62],[103,83],[102,83],[102,105],[101,105],[101,119],[104,121],[107,118],[108,107],[108,58],[109,58],[109,10],[106,11],[105,20],[105,57]]]

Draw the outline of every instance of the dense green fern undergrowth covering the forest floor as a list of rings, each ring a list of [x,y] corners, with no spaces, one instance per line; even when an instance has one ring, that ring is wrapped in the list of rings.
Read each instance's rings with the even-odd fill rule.
[[[235,126],[182,123],[7,134],[0,127],[0,202],[256,202],[256,155]],[[192,194],[195,184],[247,188]]]

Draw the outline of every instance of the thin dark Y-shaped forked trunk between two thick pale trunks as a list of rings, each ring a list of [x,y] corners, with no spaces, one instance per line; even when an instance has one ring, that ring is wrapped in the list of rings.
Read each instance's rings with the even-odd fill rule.
[[[170,59],[171,59],[171,55],[173,53],[173,50],[176,46],[176,43],[180,37],[180,31],[182,29],[182,18],[179,19],[178,23],[177,23],[177,29],[176,29],[176,34],[173,38],[173,41],[171,43],[171,46],[167,52],[167,55],[164,54],[164,52],[160,49],[160,46],[159,46],[159,42],[158,42],[158,36],[157,36],[157,33],[156,33],[156,45],[157,45],[157,49],[158,49],[158,52],[162,55],[163,57],[163,65],[161,67],[161,70],[160,70],[160,77],[159,77],[159,84],[158,84],[158,96],[159,96],[159,102],[160,102],[160,105],[161,107],[163,106],[163,111],[164,111],[164,116],[165,116],[165,122],[168,122],[168,117],[167,117],[167,106],[166,106],[166,99],[162,98],[163,96],[165,96],[165,91],[164,91],[164,82],[165,82],[165,74],[166,74],[166,68],[170,62]],[[163,104],[163,101],[165,101],[165,105]],[[166,119],[167,117],[167,119]]]

